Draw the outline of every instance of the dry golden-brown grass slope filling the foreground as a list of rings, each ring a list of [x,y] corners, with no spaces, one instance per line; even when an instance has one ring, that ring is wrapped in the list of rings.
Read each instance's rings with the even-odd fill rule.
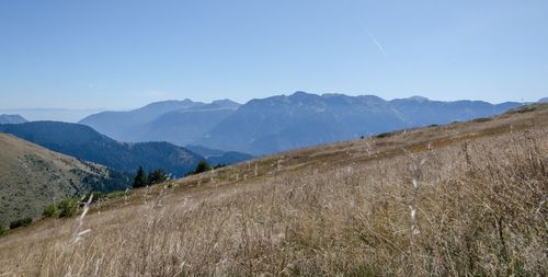
[[[0,238],[13,276],[546,275],[548,108],[266,157]]]

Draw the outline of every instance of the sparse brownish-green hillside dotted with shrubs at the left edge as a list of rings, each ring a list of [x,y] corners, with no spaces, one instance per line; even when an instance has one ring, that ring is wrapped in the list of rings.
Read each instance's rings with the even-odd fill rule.
[[[0,134],[0,226],[22,217],[38,217],[44,207],[91,191],[124,189],[127,181],[113,172]],[[119,176],[116,176],[119,177]]]

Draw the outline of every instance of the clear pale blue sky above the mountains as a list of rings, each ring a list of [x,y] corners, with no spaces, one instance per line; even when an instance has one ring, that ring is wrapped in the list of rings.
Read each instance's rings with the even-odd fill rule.
[[[548,1],[0,1],[0,108],[548,96]]]

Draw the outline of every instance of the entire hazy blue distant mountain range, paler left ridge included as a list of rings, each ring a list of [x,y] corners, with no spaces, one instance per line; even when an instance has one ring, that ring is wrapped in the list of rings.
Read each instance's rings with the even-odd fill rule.
[[[489,117],[520,105],[296,92],[243,105],[229,100],[158,102],[130,112],[99,113],[80,124],[117,140],[169,141],[263,155],[396,129]]]

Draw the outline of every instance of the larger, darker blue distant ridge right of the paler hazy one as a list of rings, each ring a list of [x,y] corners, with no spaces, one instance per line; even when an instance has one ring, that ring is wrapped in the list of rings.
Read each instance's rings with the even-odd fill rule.
[[[489,117],[518,105],[423,97],[386,101],[374,95],[296,92],[248,102],[212,129],[202,145],[252,154],[274,153],[397,129]]]

